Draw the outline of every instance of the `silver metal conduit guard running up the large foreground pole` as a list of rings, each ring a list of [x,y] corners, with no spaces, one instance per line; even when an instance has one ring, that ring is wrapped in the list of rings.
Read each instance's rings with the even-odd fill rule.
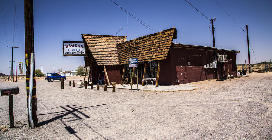
[[[30,59],[30,76],[29,76],[29,93],[28,93],[28,119],[30,121],[30,127],[35,128],[32,119],[32,90],[33,90],[33,69],[34,69],[34,53],[31,53]]]

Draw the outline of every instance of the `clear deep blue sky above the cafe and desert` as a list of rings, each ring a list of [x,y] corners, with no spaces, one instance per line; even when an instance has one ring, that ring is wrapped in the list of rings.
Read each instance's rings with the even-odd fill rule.
[[[19,47],[14,48],[14,61],[17,65],[19,61],[25,61],[24,1],[17,0],[16,17],[15,0],[0,1],[3,4],[2,12],[0,3],[0,42],[2,48],[0,72],[9,74],[11,63],[8,61],[11,61],[11,48],[6,48],[6,46]],[[206,17],[197,12],[185,0],[115,0],[115,2],[157,31],[176,27],[177,39],[175,40],[183,44],[213,46],[212,32],[209,31],[210,21],[206,17],[209,19],[216,17],[214,22],[216,47],[221,48],[222,46],[223,49],[239,50],[241,53],[237,55],[237,63],[244,63],[245,60],[248,63],[246,33],[214,0],[188,0]],[[248,24],[249,38],[257,62],[272,59],[272,1],[217,0],[217,2],[244,30]],[[123,30],[119,31],[117,35],[126,36],[127,20],[128,40],[154,33],[132,17],[129,16],[127,19],[127,14],[111,0],[34,0],[36,69],[41,69],[43,66],[43,73],[51,73],[53,65],[55,65],[55,72],[60,68],[75,70],[79,65],[84,64],[84,57],[63,57],[62,41],[82,41],[80,34],[115,35],[120,27]],[[15,32],[14,41],[13,32]],[[256,63],[251,48],[250,51],[251,63]]]

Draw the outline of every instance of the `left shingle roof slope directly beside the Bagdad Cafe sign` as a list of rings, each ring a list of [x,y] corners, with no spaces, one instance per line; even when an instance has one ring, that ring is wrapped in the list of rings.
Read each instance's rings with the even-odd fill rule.
[[[118,65],[116,45],[126,41],[126,36],[81,34],[83,41],[98,65]],[[86,61],[86,60],[85,60]],[[85,62],[86,65],[86,62]],[[85,66],[86,67],[86,66]]]

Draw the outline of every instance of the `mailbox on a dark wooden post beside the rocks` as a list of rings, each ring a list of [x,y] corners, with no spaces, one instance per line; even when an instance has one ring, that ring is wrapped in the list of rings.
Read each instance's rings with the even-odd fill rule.
[[[18,86],[5,87],[0,89],[1,96],[8,96],[9,126],[14,128],[13,120],[13,95],[20,94]]]

